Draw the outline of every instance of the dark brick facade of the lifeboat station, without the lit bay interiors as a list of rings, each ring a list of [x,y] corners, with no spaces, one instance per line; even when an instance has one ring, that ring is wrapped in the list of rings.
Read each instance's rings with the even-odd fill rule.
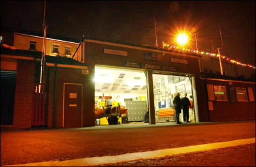
[[[149,124],[156,124],[158,119],[155,75],[188,78],[191,88],[183,91],[182,87],[176,86],[172,94],[190,92],[196,122],[255,120],[255,82],[201,73],[200,56],[196,54],[96,39],[84,39],[80,47],[82,53],[74,53],[72,58],[46,55],[42,98],[41,92],[38,94],[42,53],[1,49],[1,89],[11,89],[12,97],[8,99],[14,106],[1,111],[1,118],[12,120],[6,124],[18,128],[95,126],[94,77],[97,67],[129,69],[145,74]],[[4,76],[10,76],[10,73],[14,73],[14,88],[6,87],[9,80]],[[3,99],[7,96],[1,96],[1,103]]]

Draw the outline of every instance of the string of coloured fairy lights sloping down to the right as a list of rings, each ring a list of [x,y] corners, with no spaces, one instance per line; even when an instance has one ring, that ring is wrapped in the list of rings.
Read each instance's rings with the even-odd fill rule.
[[[218,54],[215,54],[215,53],[209,53],[209,52],[204,52],[204,51],[187,49],[187,48],[184,48],[184,47],[178,47],[178,46],[169,45],[167,43],[164,43],[164,47],[167,47],[168,50],[172,49],[173,51],[177,51],[177,52],[187,52],[187,53],[190,52],[190,53],[197,53],[197,54],[200,54],[200,55],[206,55],[206,56],[212,56],[212,57],[215,57],[215,56],[219,57],[220,56],[222,59],[224,59],[224,60],[226,60],[226,61],[228,61],[230,63],[256,69],[256,67],[253,66],[253,65],[241,63],[241,62],[236,61],[234,59],[228,58],[228,57],[226,57],[224,55],[218,55]]]

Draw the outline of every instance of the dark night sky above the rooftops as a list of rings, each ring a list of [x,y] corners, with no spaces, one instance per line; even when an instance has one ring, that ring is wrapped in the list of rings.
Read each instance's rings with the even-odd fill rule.
[[[42,32],[44,1],[1,1],[1,26]],[[196,28],[198,49],[255,66],[255,1],[47,1],[47,33],[136,45],[173,43],[178,29]],[[196,49],[194,37],[188,45]]]

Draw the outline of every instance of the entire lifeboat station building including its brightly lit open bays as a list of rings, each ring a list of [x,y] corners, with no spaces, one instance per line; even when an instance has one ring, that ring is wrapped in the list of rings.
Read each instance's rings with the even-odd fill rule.
[[[31,35],[16,36],[29,38],[30,47]],[[175,122],[172,101],[178,92],[192,104],[190,122],[255,120],[255,81],[202,73],[201,55],[98,39],[48,41],[42,84],[40,49],[17,42],[1,46],[1,123],[16,128],[108,125],[107,117],[95,115],[107,100],[127,110],[118,124]],[[52,55],[62,45],[69,54]]]

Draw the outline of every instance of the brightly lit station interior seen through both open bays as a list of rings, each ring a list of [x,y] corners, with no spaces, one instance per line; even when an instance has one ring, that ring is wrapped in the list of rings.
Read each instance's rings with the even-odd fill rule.
[[[143,71],[96,66],[94,82],[96,106],[104,106],[104,101],[110,99],[113,106],[119,103],[128,108],[127,122],[145,122],[148,97],[146,75]],[[176,118],[172,100],[177,92],[180,92],[180,98],[186,92],[187,97],[192,101],[191,78],[153,74],[153,84],[156,122],[174,122]],[[136,102],[137,106],[133,106],[132,102],[133,104]],[[182,114],[180,114],[181,122],[183,122]],[[99,120],[100,125],[107,124],[106,118],[99,118]],[[191,108],[190,122],[194,121],[194,109]]]

